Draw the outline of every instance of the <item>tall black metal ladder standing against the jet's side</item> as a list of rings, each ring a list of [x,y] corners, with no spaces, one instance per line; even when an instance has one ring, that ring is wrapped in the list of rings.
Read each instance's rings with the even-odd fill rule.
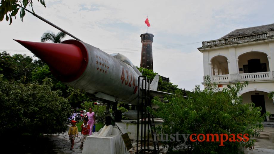
[[[140,87],[140,78],[142,79],[142,87]],[[148,82],[147,82],[148,81]],[[148,83],[148,85],[147,85]],[[158,154],[159,153],[159,141],[157,139],[155,123],[154,123],[154,116],[151,115],[146,108],[151,106],[151,99],[149,97],[149,83],[150,80],[147,80],[146,76],[139,76],[138,77],[138,102],[137,102],[137,154]],[[148,87],[148,88],[147,88]],[[141,90],[140,90],[141,88]],[[141,101],[140,101],[141,100]],[[141,122],[139,122],[141,113]],[[147,118],[147,121],[146,121]],[[141,148],[139,148],[139,124],[141,124]],[[144,127],[144,129],[143,129]],[[146,128],[148,130],[146,130]],[[150,128],[150,129],[149,129]],[[146,135],[147,132],[147,135]],[[152,142],[153,142],[153,149],[149,148],[149,134],[151,132]],[[146,147],[147,146],[147,147]]]

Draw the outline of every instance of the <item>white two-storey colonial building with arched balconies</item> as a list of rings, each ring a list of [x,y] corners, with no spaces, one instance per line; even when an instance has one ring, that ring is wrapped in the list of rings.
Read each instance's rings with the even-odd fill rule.
[[[220,39],[205,41],[198,48],[203,53],[204,76],[219,84],[248,81],[240,92],[243,103],[253,102],[269,111],[274,121],[274,24],[236,29]],[[202,83],[205,85],[204,83]]]

